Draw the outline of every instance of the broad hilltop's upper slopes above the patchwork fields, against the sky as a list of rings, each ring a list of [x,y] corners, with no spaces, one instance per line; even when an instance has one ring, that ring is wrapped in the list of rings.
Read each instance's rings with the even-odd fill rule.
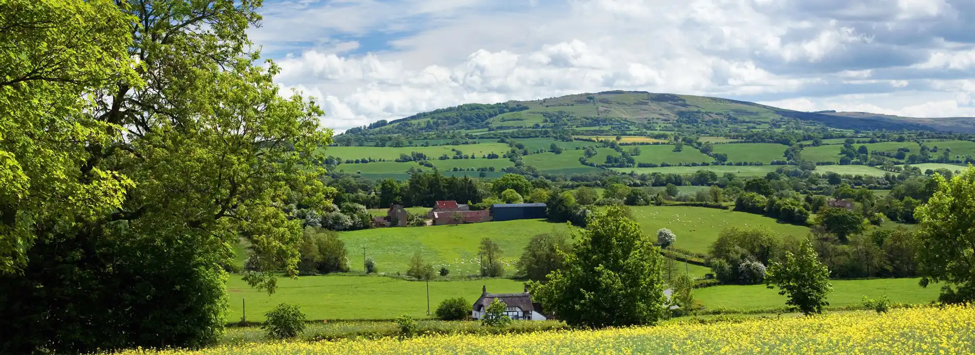
[[[519,129],[637,135],[655,130],[696,130],[694,133],[722,135],[786,126],[975,132],[975,118],[909,118],[834,111],[812,113],[719,97],[613,90],[531,101],[464,104],[354,127],[338,141],[354,136],[366,140],[381,136],[429,138],[426,135],[438,131],[482,135]]]

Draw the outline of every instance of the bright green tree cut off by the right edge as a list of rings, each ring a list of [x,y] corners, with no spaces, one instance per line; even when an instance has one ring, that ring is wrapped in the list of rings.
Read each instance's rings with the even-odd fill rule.
[[[943,282],[942,302],[975,301],[975,169],[937,186],[926,204],[917,207],[917,267],[921,285]]]

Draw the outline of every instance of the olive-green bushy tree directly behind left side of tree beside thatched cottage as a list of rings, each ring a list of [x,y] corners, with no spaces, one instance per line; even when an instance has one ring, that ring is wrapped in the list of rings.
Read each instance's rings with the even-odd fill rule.
[[[558,228],[532,236],[516,264],[519,274],[530,280],[544,281],[546,275],[562,268],[564,255],[569,250],[568,237],[568,231]]]

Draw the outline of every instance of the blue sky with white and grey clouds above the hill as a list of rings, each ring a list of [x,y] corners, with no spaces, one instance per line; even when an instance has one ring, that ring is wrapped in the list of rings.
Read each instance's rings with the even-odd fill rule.
[[[265,0],[249,36],[343,131],[610,89],[975,116],[975,0]]]

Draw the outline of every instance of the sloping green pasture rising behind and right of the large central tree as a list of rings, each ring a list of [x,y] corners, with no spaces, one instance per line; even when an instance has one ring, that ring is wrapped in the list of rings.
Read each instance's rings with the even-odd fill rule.
[[[733,226],[767,226],[779,235],[804,236],[808,229],[781,224],[773,218],[752,213],[692,206],[634,206],[634,219],[643,227],[643,233],[656,237],[659,229],[666,228],[677,234],[674,246],[694,253],[706,254],[718,233]]]

